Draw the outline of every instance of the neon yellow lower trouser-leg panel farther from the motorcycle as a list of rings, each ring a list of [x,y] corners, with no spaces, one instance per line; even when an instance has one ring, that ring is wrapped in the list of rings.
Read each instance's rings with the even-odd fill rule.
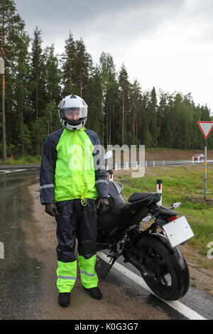
[[[77,277],[77,261],[60,262],[56,270],[58,279],[57,286],[59,292],[70,292],[75,284]]]

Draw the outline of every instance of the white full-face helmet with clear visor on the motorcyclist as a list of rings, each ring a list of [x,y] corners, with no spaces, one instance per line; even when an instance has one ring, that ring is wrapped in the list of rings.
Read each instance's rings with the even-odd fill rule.
[[[80,130],[87,122],[87,104],[77,95],[68,95],[58,104],[62,126],[71,131]]]

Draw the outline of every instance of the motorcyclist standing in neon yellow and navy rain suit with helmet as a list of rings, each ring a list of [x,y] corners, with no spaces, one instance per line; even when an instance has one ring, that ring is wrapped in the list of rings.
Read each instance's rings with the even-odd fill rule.
[[[82,286],[92,298],[102,298],[94,269],[97,208],[107,207],[108,190],[99,137],[84,127],[87,104],[77,95],[68,95],[58,105],[58,115],[62,129],[52,132],[43,146],[40,203],[57,222],[58,303],[64,307],[70,304],[77,278],[75,238]]]

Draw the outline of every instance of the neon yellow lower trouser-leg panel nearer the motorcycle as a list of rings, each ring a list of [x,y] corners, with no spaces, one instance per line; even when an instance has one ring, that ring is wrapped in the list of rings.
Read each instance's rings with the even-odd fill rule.
[[[86,289],[95,288],[98,284],[97,273],[94,270],[97,255],[93,255],[89,259],[84,259],[82,255],[78,255],[78,264],[80,266],[80,276],[82,285]]]

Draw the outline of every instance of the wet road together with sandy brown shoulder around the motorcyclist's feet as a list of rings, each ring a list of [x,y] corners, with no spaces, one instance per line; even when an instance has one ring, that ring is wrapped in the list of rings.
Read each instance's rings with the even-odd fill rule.
[[[102,280],[107,264],[101,259],[97,260],[96,270],[103,300],[87,296],[78,279],[70,308],[58,306],[55,222],[33,205],[39,196],[38,171],[31,167],[31,171],[0,175],[0,242],[4,244],[4,259],[0,259],[0,319],[184,319],[148,291],[122,278],[116,269]],[[33,193],[28,187],[34,187]],[[45,225],[43,216],[44,221],[48,220]],[[195,292],[192,294],[197,303]],[[186,299],[186,303],[190,301]],[[207,314],[207,318],[211,316]]]

